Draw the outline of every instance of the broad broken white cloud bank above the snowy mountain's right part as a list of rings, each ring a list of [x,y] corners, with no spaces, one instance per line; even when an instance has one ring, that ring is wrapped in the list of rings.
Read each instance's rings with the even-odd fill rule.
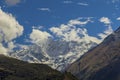
[[[65,41],[93,41],[96,43],[100,43],[101,40],[96,37],[89,36],[87,30],[85,28],[76,27],[76,25],[86,25],[91,21],[86,20],[85,22],[81,22],[80,20],[70,20],[68,24],[61,24],[59,27],[51,27],[50,31],[58,38]]]

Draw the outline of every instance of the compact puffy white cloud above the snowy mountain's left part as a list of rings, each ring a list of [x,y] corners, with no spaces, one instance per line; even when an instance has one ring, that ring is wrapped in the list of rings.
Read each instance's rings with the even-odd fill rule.
[[[40,31],[38,29],[33,29],[32,33],[30,34],[30,39],[33,43],[44,43],[49,39],[49,37],[52,36],[48,32]]]

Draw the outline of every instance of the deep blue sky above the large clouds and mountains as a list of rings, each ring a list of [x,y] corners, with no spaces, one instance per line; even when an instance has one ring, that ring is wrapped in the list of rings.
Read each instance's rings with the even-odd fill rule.
[[[98,34],[120,25],[120,0],[0,0],[0,6],[24,28],[23,35],[16,38],[18,43],[26,43],[33,26],[55,35],[55,31],[50,31],[53,27],[89,19],[85,24],[75,24],[75,28],[85,28],[88,35],[100,38]]]

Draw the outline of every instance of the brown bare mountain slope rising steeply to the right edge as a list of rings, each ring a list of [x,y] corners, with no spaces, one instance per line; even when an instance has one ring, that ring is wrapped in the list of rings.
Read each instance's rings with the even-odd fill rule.
[[[79,80],[120,80],[120,28],[69,68]]]

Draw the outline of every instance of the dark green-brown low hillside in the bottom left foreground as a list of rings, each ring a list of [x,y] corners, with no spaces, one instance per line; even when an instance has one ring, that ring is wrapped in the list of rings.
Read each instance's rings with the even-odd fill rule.
[[[0,80],[77,80],[44,64],[30,64],[0,55]]]

